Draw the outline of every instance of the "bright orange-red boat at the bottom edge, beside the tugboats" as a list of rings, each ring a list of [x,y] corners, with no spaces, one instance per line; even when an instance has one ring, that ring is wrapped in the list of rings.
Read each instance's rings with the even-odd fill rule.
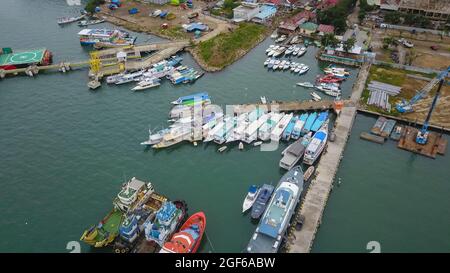
[[[206,217],[203,212],[193,214],[165,243],[160,253],[195,253],[197,252],[206,228]]]

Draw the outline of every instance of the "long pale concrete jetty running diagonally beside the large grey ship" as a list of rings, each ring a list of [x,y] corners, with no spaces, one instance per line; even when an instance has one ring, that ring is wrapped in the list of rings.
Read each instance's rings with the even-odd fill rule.
[[[311,181],[298,212],[304,217],[303,226],[301,230],[297,231],[293,229],[292,234],[289,234],[292,239],[288,240],[286,244],[286,250],[288,252],[306,253],[310,252],[312,248],[328,196],[333,187],[334,177],[356,117],[356,104],[364,90],[369,68],[369,64],[364,64],[361,67],[358,79],[353,85],[351,96],[353,103],[344,104],[342,111],[336,119],[334,125],[335,140],[328,142],[317,165],[316,177]]]

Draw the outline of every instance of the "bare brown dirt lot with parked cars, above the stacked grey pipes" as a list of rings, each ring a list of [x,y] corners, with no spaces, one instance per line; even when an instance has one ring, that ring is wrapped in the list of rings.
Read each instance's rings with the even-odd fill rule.
[[[396,30],[375,29],[372,36],[372,47],[377,53],[377,59],[389,61],[389,52],[382,49],[383,38],[393,36],[399,38],[400,35],[414,44],[414,48],[408,49],[399,46],[402,52],[401,61],[409,64],[409,58],[406,55],[413,56],[411,65],[418,67],[426,67],[437,70],[443,70],[450,65],[450,37],[440,37],[432,34],[413,35],[409,32],[399,32]],[[439,50],[432,50],[430,46],[438,45]],[[400,48],[401,47],[401,48]],[[403,56],[405,54],[405,56]],[[390,60],[392,62],[392,60]]]

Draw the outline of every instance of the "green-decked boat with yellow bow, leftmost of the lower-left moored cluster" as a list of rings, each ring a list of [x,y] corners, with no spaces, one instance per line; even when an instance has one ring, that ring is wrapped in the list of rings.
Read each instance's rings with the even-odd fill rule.
[[[123,212],[113,209],[97,226],[86,230],[80,240],[94,247],[105,247],[119,235],[119,226],[124,218]]]

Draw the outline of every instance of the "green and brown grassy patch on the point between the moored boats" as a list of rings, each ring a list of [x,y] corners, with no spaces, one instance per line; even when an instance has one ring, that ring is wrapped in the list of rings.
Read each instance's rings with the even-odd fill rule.
[[[253,48],[265,32],[264,26],[242,23],[232,32],[201,42],[197,47],[198,55],[208,66],[223,68]]]

